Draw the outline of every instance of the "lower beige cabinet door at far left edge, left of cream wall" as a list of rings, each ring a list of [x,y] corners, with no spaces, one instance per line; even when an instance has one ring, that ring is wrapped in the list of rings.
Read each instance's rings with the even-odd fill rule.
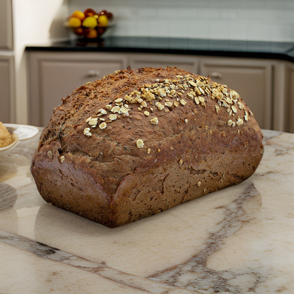
[[[0,55],[0,121],[11,120],[14,103],[14,57]]]

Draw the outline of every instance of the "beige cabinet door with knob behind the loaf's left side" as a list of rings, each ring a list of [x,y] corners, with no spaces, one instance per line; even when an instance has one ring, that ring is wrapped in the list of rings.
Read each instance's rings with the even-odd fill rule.
[[[54,107],[62,103],[61,98],[79,86],[124,69],[126,63],[112,56],[102,58],[89,53],[86,57],[70,53],[31,54],[30,123],[37,126],[47,125]]]

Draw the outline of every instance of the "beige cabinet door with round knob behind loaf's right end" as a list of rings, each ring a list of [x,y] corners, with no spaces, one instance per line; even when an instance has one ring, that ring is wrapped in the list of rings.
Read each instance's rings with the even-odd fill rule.
[[[272,128],[272,66],[252,59],[203,59],[203,76],[235,90],[253,112],[260,128]]]

